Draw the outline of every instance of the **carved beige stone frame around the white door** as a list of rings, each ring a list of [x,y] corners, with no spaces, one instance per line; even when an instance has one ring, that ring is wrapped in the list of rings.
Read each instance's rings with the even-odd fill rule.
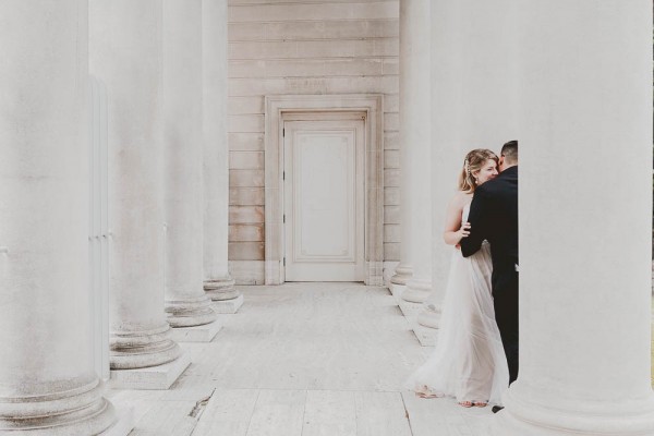
[[[284,116],[360,112],[364,119],[365,283],[383,286],[384,266],[384,96],[379,94],[283,95],[265,99],[265,278],[284,282],[283,122]]]

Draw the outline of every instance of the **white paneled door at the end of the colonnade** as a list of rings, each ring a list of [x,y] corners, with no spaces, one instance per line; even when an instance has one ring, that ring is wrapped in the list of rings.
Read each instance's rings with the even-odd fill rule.
[[[287,121],[286,281],[364,280],[364,121]]]

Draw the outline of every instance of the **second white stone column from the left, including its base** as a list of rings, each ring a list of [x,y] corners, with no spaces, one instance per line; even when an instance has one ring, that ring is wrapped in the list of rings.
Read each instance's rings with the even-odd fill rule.
[[[190,362],[164,312],[161,0],[89,4],[90,71],[108,93],[112,383],[168,388]]]

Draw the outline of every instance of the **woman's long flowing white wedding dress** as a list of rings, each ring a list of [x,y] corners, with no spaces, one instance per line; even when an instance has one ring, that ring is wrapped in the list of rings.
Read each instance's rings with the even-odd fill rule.
[[[463,208],[468,219],[470,205]],[[509,370],[495,322],[491,246],[465,258],[458,249],[447,281],[436,349],[407,387],[457,401],[501,404]]]

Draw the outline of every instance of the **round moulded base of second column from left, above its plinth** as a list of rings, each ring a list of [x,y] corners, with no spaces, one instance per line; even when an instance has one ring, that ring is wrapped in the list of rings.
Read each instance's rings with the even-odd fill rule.
[[[170,326],[141,331],[111,332],[109,366],[111,370],[136,370],[164,365],[182,354],[170,339]]]

